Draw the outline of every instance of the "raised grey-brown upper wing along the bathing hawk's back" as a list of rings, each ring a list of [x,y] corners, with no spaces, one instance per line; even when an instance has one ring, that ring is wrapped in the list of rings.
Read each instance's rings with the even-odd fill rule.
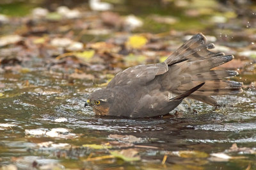
[[[147,82],[152,81],[156,75],[161,75],[167,71],[168,65],[166,63],[132,66],[117,73],[108,83],[107,88],[129,84],[146,84]]]

